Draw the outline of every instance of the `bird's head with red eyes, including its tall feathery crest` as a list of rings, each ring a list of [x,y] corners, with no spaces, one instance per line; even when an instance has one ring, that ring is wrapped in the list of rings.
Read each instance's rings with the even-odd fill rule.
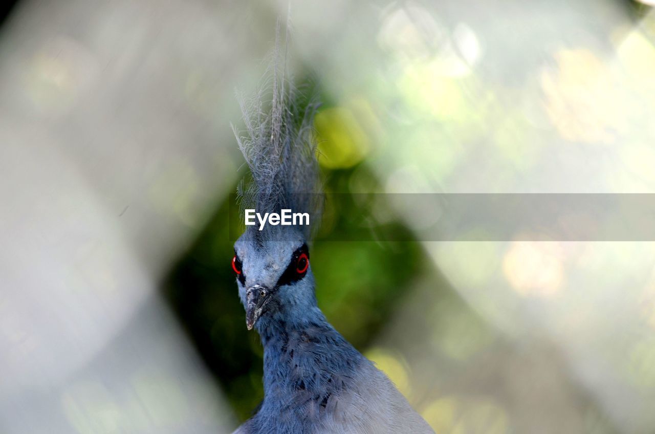
[[[246,229],[234,243],[233,269],[246,326],[252,329],[274,318],[306,319],[316,307],[307,241],[320,221],[320,187],[314,113],[318,103],[291,83],[276,41],[272,77],[263,80],[251,100],[240,102],[246,130],[236,130],[239,149],[250,168],[250,180],[238,187],[242,210],[261,215],[291,210],[307,214],[305,224],[271,224]],[[264,100],[271,96],[271,101]],[[311,222],[311,223],[310,223]],[[284,226],[283,226],[284,225]]]

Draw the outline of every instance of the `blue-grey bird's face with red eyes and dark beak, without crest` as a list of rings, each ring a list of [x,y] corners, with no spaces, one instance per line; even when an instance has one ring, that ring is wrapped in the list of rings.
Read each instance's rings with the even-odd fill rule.
[[[302,235],[288,231],[285,241],[261,241],[246,231],[234,243],[232,267],[246,326],[275,315],[302,315],[316,305],[309,249]]]

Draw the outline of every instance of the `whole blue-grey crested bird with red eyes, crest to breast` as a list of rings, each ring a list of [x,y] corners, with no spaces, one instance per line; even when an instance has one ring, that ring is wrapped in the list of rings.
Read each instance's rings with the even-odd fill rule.
[[[278,34],[279,21],[268,78],[252,98],[238,98],[246,128],[233,129],[252,176],[237,196],[242,213],[291,209],[309,213],[310,224],[246,226],[234,243],[246,327],[264,350],[264,398],[233,434],[434,434],[318,307],[308,247],[324,202],[312,131],[318,104],[293,86]]]

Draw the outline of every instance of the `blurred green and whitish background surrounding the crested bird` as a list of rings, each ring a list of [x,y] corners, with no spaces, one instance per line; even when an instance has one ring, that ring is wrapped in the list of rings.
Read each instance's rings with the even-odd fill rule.
[[[439,434],[655,432],[654,243],[334,241],[371,204],[332,195],[655,193],[644,3],[6,8],[1,433],[227,433],[259,403],[230,123],[288,9],[323,102],[312,269],[337,330]],[[430,216],[375,207],[409,240]]]

